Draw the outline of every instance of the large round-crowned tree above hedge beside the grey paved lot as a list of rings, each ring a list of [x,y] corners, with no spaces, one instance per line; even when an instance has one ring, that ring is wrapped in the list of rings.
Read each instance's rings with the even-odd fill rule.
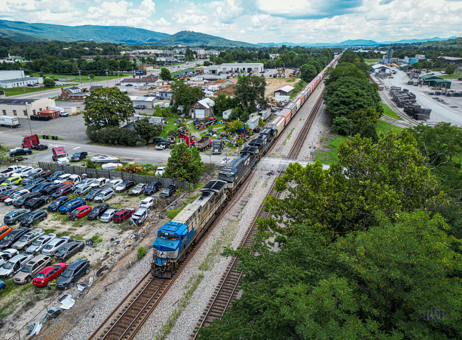
[[[97,129],[119,126],[135,113],[133,102],[118,88],[97,88],[85,97],[85,125]]]

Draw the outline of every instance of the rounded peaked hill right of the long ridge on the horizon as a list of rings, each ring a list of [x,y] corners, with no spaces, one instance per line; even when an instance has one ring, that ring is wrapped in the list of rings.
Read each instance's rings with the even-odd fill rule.
[[[186,45],[191,47],[201,45],[216,47],[258,47],[258,45],[248,42],[233,41],[193,31],[180,31],[157,41],[156,44],[159,46]]]

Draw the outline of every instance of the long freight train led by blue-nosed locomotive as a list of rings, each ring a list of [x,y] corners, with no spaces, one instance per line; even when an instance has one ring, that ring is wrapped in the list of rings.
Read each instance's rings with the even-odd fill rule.
[[[249,141],[239,155],[219,172],[216,180],[201,189],[201,195],[186,205],[170,222],[158,230],[152,244],[151,272],[158,277],[170,278],[175,274],[187,252],[205,233],[236,189],[245,181],[250,170],[267,152],[282,133],[298,109],[322,81],[327,68],[333,66],[337,55],[300,93],[261,130],[257,138]]]

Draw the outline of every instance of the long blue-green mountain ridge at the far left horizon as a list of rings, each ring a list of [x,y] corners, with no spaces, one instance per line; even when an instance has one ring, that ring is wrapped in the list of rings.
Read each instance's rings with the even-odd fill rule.
[[[169,36],[166,33],[127,26],[63,26],[48,23],[24,23],[0,20],[2,37],[14,41],[78,41],[118,42],[122,44],[153,44]]]

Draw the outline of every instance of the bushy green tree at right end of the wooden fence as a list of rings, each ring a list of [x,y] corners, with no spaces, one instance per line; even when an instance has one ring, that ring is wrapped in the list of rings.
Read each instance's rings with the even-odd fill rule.
[[[180,143],[170,152],[164,177],[192,183],[201,178],[203,171],[199,150],[195,147],[189,149],[185,143]]]

